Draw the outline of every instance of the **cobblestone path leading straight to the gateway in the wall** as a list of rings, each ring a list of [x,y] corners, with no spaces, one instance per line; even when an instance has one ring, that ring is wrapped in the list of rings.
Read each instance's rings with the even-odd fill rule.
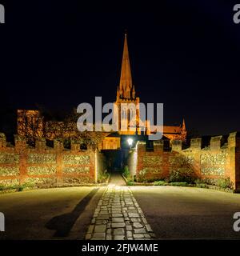
[[[119,178],[122,178],[119,174]],[[116,174],[114,174],[116,180]],[[110,183],[94,212],[86,240],[142,240],[154,232],[128,186]]]

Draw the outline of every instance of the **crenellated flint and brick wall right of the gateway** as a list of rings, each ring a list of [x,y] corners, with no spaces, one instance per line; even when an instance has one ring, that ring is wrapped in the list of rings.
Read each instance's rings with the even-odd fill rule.
[[[170,178],[173,172],[189,178],[230,178],[234,189],[240,189],[238,133],[231,133],[227,143],[222,144],[222,136],[210,138],[210,145],[204,148],[202,138],[191,139],[190,147],[184,150],[182,141],[172,141],[171,150],[163,150],[163,141],[154,142],[153,150],[146,150],[146,143],[138,142],[134,173],[139,181]]]

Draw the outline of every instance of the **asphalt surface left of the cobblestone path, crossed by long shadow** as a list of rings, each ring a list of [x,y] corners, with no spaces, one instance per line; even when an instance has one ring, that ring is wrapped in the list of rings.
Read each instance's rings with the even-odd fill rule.
[[[6,232],[0,239],[83,239],[103,187],[0,194]]]

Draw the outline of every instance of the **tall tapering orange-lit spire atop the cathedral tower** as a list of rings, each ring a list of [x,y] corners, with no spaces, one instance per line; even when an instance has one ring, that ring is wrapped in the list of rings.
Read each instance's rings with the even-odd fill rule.
[[[130,70],[130,59],[127,46],[127,39],[125,34],[123,55],[122,55],[122,70],[119,83],[120,94],[122,98],[130,98],[130,91],[132,90],[132,76]]]

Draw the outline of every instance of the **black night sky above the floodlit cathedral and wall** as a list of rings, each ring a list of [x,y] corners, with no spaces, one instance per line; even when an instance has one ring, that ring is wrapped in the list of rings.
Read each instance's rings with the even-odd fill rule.
[[[114,102],[127,30],[136,94],[164,103],[166,125],[240,131],[240,1],[130,2],[0,0],[1,126],[19,108]]]

